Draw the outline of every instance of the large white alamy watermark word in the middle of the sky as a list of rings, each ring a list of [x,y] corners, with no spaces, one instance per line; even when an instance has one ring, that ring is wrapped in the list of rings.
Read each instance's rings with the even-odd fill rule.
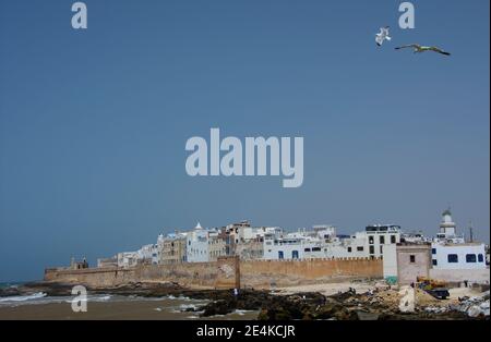
[[[283,187],[299,187],[303,183],[303,137],[292,141],[294,146],[290,137],[246,137],[243,147],[238,137],[220,139],[220,130],[211,129],[209,146],[201,136],[185,143],[185,150],[192,151],[185,161],[185,172],[191,176],[282,174]]]

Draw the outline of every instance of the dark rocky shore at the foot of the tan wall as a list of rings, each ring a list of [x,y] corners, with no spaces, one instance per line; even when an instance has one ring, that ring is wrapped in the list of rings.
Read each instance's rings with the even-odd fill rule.
[[[71,296],[72,284],[36,282],[17,288],[0,289],[0,297],[46,293],[48,296]],[[201,317],[227,315],[235,310],[256,310],[260,320],[327,319],[327,320],[414,320],[414,319],[489,319],[489,292],[480,300],[474,300],[484,310],[474,315],[459,309],[463,302],[443,305],[427,293],[417,292],[418,303],[412,312],[400,310],[400,296],[391,289],[356,293],[339,292],[323,295],[319,292],[282,294],[261,290],[192,290],[177,283],[129,283],[116,288],[91,289],[89,294],[111,294],[140,297],[182,296],[206,300],[207,304],[187,308]],[[468,298],[465,298],[468,301]],[[487,301],[487,302],[486,302]],[[479,303],[478,303],[479,302]],[[486,305],[488,307],[487,315]]]

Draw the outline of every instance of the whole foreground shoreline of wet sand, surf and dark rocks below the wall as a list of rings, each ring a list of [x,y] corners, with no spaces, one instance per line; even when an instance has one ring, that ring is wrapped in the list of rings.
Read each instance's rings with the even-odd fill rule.
[[[17,288],[1,289],[0,298],[35,293],[45,293],[53,298],[73,298],[72,286],[73,284],[68,283],[32,282]],[[471,290],[456,290],[458,297],[479,294]],[[459,305],[457,297],[436,300],[421,290],[415,291],[416,309],[403,313],[399,309],[402,297],[398,290],[373,282],[312,284],[278,288],[275,291],[241,289],[237,296],[232,290],[189,289],[171,282],[151,282],[115,288],[87,288],[87,294],[109,295],[119,300],[88,302],[91,313],[86,316],[74,316],[69,303],[0,306],[0,319],[489,319],[489,308],[488,316],[469,317],[456,308]],[[182,306],[181,312],[166,312],[167,308],[173,307],[173,304],[183,305],[180,301],[192,301],[195,305]],[[489,292],[487,301],[489,303]],[[158,308],[159,302],[165,309]],[[233,316],[235,313],[239,313],[237,317]]]

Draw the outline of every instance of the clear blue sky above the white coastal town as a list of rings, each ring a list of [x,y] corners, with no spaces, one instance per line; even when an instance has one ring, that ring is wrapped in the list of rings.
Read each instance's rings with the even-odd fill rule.
[[[489,1],[0,0],[0,281],[250,219],[490,227]],[[379,27],[393,40],[378,48]],[[451,57],[397,45],[438,45]],[[191,178],[191,136],[303,136],[304,181]]]

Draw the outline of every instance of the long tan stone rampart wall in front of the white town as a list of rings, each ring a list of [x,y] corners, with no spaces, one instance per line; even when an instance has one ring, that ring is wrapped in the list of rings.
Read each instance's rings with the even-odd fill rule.
[[[176,282],[195,289],[270,289],[382,276],[381,259],[240,261],[236,257],[219,258],[216,262],[45,271],[46,281],[85,284],[92,288],[117,286],[132,282]]]

